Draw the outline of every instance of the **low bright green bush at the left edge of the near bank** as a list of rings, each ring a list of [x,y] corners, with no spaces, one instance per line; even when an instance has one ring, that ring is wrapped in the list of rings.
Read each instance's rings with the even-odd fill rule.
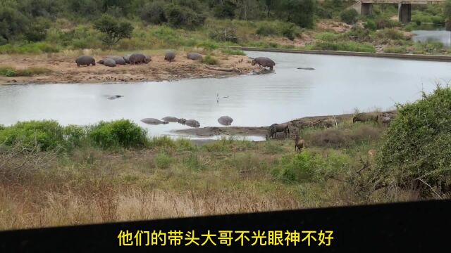
[[[0,131],[0,143],[21,143],[25,148],[38,146],[44,151],[51,150],[64,145],[63,130],[63,126],[54,120],[18,122]]]

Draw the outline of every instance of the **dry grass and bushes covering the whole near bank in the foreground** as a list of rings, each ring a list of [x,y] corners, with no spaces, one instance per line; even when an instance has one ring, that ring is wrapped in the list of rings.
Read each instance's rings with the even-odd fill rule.
[[[449,198],[449,108],[438,86],[388,128],[302,129],[301,153],[290,138],[149,137],[127,119],[0,126],[0,229]]]

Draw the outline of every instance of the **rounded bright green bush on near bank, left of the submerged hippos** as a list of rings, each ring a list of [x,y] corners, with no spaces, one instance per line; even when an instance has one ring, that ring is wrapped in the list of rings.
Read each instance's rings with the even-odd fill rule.
[[[89,138],[101,148],[142,148],[147,131],[128,119],[99,122],[89,129]]]

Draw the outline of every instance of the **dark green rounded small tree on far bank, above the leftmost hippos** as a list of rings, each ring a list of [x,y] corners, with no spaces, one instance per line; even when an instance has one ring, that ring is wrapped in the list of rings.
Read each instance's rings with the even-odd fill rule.
[[[113,46],[121,39],[132,37],[133,27],[130,22],[120,22],[109,14],[101,15],[94,23],[94,27],[104,33],[102,41],[107,46]]]

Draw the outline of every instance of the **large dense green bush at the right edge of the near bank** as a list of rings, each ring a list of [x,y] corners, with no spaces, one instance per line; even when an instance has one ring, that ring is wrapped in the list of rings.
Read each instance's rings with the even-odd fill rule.
[[[438,86],[421,100],[398,105],[381,140],[376,186],[416,186],[431,193],[451,190],[451,89]],[[420,181],[421,179],[421,181]]]

